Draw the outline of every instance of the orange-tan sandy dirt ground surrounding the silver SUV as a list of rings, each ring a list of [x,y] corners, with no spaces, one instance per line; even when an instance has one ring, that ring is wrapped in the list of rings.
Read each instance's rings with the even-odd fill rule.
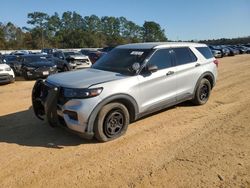
[[[109,143],[36,119],[33,81],[0,86],[0,187],[250,187],[250,55],[219,61],[206,105],[154,114]]]

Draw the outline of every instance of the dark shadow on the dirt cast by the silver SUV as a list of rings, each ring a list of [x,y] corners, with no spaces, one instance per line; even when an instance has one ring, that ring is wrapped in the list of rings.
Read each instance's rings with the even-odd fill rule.
[[[95,144],[62,128],[52,128],[33,114],[33,109],[0,116],[0,143],[61,149],[64,146]]]

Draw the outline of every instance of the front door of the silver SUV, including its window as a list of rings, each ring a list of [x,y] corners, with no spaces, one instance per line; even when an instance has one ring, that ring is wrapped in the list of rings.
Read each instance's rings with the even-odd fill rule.
[[[158,70],[153,73],[141,73],[138,76],[140,112],[176,101],[176,79],[172,50],[158,49],[147,64],[156,65]]]

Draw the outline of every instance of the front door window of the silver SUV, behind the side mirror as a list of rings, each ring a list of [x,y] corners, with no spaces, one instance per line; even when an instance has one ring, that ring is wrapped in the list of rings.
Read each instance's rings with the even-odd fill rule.
[[[170,49],[157,50],[149,60],[149,64],[156,65],[158,70],[172,67]]]

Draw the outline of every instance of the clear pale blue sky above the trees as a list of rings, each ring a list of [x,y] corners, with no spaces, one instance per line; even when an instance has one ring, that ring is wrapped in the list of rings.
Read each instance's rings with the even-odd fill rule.
[[[154,21],[170,40],[250,36],[250,0],[2,0],[0,22],[28,26],[34,11],[124,16],[140,26]]]

